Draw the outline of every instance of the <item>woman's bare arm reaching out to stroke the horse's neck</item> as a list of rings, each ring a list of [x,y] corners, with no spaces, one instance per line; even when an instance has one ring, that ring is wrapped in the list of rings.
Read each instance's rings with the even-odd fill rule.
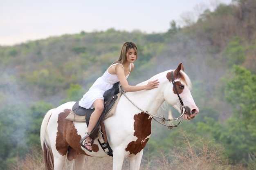
[[[133,70],[133,67],[134,65],[132,64],[131,72]],[[159,85],[158,79],[156,79],[154,81],[148,82],[148,84],[144,86],[130,86],[125,77],[124,68],[121,65],[117,64],[115,70],[116,70],[117,77],[120,81],[120,84],[122,85],[125,91],[132,92],[132,91],[150,90],[153,88],[157,88]]]

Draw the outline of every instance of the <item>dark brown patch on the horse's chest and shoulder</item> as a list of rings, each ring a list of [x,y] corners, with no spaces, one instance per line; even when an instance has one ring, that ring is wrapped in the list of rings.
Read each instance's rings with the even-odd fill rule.
[[[151,134],[151,120],[149,115],[146,113],[139,113],[138,115],[134,115],[134,136],[138,139],[136,141],[131,141],[126,151],[129,151],[131,154],[136,155],[140,152],[148,142],[148,136]]]

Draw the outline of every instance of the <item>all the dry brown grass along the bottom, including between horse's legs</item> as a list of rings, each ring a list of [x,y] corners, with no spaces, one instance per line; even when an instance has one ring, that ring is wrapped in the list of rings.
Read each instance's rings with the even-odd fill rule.
[[[182,147],[169,150],[166,154],[159,151],[157,157],[151,157],[149,152],[144,152],[141,161],[141,170],[246,170],[240,165],[231,166],[223,155],[222,148],[211,145],[212,141],[197,139],[190,141],[190,137],[182,132],[180,140]],[[10,165],[10,170],[44,170],[44,161],[40,147],[28,153],[25,159],[17,159]],[[72,162],[67,161],[63,170],[69,170]],[[129,170],[129,159],[124,160],[122,170]],[[83,170],[112,170],[112,157],[94,158],[86,157]]]

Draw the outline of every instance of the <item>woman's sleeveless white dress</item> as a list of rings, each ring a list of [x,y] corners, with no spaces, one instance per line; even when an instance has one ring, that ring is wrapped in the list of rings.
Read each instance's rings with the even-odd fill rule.
[[[112,64],[111,66],[117,65],[119,63]],[[124,66],[120,64],[123,68]],[[110,66],[110,67],[111,67]],[[110,68],[109,67],[109,68]],[[130,64],[130,71],[131,71],[132,64]],[[126,79],[128,78],[129,74],[126,76]],[[108,89],[112,88],[115,83],[119,82],[119,79],[116,74],[110,74],[108,73],[108,69],[105,71],[105,73],[99,77],[94,84],[90,87],[89,91],[87,91],[83,98],[79,101],[79,106],[83,108],[94,108],[92,106],[93,102],[96,99],[104,99],[103,94]]]

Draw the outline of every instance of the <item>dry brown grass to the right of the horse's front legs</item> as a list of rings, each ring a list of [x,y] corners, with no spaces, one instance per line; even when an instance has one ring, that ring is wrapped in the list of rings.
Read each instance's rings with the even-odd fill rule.
[[[245,170],[240,165],[231,166],[223,148],[212,146],[211,140],[198,138],[192,143],[184,132],[181,133],[180,141],[185,145],[170,150],[168,155],[160,151],[161,157],[155,159],[158,170]]]

